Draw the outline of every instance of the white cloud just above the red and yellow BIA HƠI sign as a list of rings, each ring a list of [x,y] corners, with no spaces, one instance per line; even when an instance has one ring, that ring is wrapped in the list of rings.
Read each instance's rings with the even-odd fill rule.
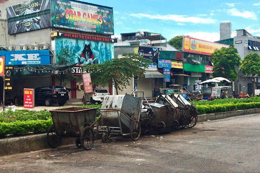
[[[190,37],[197,38],[200,40],[205,40],[209,42],[215,42],[220,40],[220,34],[219,33],[208,33],[208,32],[189,32],[185,35],[190,35]]]

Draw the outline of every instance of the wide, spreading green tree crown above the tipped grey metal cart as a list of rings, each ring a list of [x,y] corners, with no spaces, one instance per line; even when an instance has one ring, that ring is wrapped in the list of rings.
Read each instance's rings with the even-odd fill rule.
[[[133,76],[143,76],[144,68],[148,68],[149,64],[152,64],[151,59],[136,53],[123,53],[122,58],[82,67],[90,73],[92,85],[114,86],[118,95],[118,90],[123,91],[127,85],[130,85],[129,80]]]

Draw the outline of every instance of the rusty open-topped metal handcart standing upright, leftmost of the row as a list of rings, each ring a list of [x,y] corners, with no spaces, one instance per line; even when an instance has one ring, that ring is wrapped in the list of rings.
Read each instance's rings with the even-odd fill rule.
[[[76,146],[90,150],[94,145],[94,128],[98,129],[98,108],[70,107],[50,110],[53,125],[47,131],[47,143],[51,148],[60,145],[61,138],[76,138]]]

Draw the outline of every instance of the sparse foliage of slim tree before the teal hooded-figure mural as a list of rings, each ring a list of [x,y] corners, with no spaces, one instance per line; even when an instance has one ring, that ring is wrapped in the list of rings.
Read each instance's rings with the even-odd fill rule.
[[[68,65],[71,64],[71,62],[74,61],[72,56],[72,51],[69,48],[63,47],[59,53],[56,54],[56,59],[58,60],[57,63],[59,65]],[[75,80],[76,77],[70,73],[70,70],[66,72],[59,72],[59,76],[57,77],[60,80],[60,85],[66,85],[66,83],[63,83],[64,80]]]

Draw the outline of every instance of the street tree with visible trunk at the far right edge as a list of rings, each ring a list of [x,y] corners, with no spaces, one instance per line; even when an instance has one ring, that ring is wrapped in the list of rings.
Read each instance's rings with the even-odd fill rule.
[[[255,97],[255,75],[260,75],[260,55],[256,52],[247,54],[239,67],[239,71],[249,76],[252,75],[253,97]]]

